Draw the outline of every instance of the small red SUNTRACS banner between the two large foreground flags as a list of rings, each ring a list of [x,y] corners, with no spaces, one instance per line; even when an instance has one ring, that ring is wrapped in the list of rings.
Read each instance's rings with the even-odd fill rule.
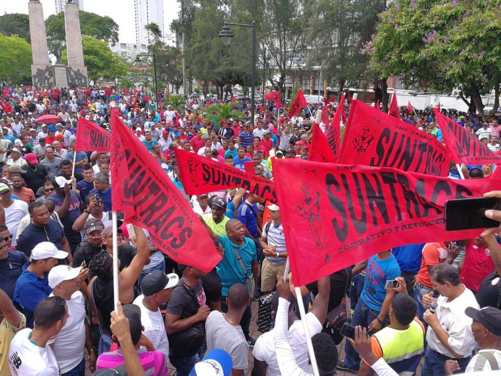
[[[217,190],[241,187],[277,204],[275,186],[270,179],[240,171],[238,168],[215,162],[183,149],[174,148],[174,153],[179,166],[179,178],[184,192],[188,195],[202,195]]]

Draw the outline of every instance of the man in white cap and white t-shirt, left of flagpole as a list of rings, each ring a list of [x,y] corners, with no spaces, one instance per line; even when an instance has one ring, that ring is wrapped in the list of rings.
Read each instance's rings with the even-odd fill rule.
[[[96,370],[97,357],[85,313],[85,300],[79,291],[82,278],[85,279],[87,273],[88,269],[66,265],[55,266],[49,272],[49,287],[53,289],[50,296],[59,296],[66,301],[70,317],[61,331],[48,341],[62,374],[85,373],[84,346],[89,352],[89,370]]]

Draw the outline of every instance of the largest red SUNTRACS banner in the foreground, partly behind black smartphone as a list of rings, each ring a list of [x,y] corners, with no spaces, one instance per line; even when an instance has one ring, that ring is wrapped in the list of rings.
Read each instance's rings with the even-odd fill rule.
[[[280,210],[287,213],[282,221],[296,286],[417,240],[479,236],[479,229],[445,231],[445,201],[480,198],[499,185],[386,167],[300,159],[273,163]]]

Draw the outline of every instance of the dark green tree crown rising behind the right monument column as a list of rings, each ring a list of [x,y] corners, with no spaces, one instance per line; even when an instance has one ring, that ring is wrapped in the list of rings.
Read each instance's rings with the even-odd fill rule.
[[[79,11],[78,16],[82,35],[106,42],[118,42],[118,24],[111,17],[103,17],[84,11]],[[45,27],[48,39],[66,41],[64,12],[49,16],[45,21]]]

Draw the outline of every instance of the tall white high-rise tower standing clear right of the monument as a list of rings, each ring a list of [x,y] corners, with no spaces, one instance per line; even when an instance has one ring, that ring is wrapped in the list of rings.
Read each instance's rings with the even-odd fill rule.
[[[150,23],[155,23],[163,29],[163,0],[134,0],[134,16],[136,19],[136,43],[149,45],[153,42],[152,36],[144,28]]]

